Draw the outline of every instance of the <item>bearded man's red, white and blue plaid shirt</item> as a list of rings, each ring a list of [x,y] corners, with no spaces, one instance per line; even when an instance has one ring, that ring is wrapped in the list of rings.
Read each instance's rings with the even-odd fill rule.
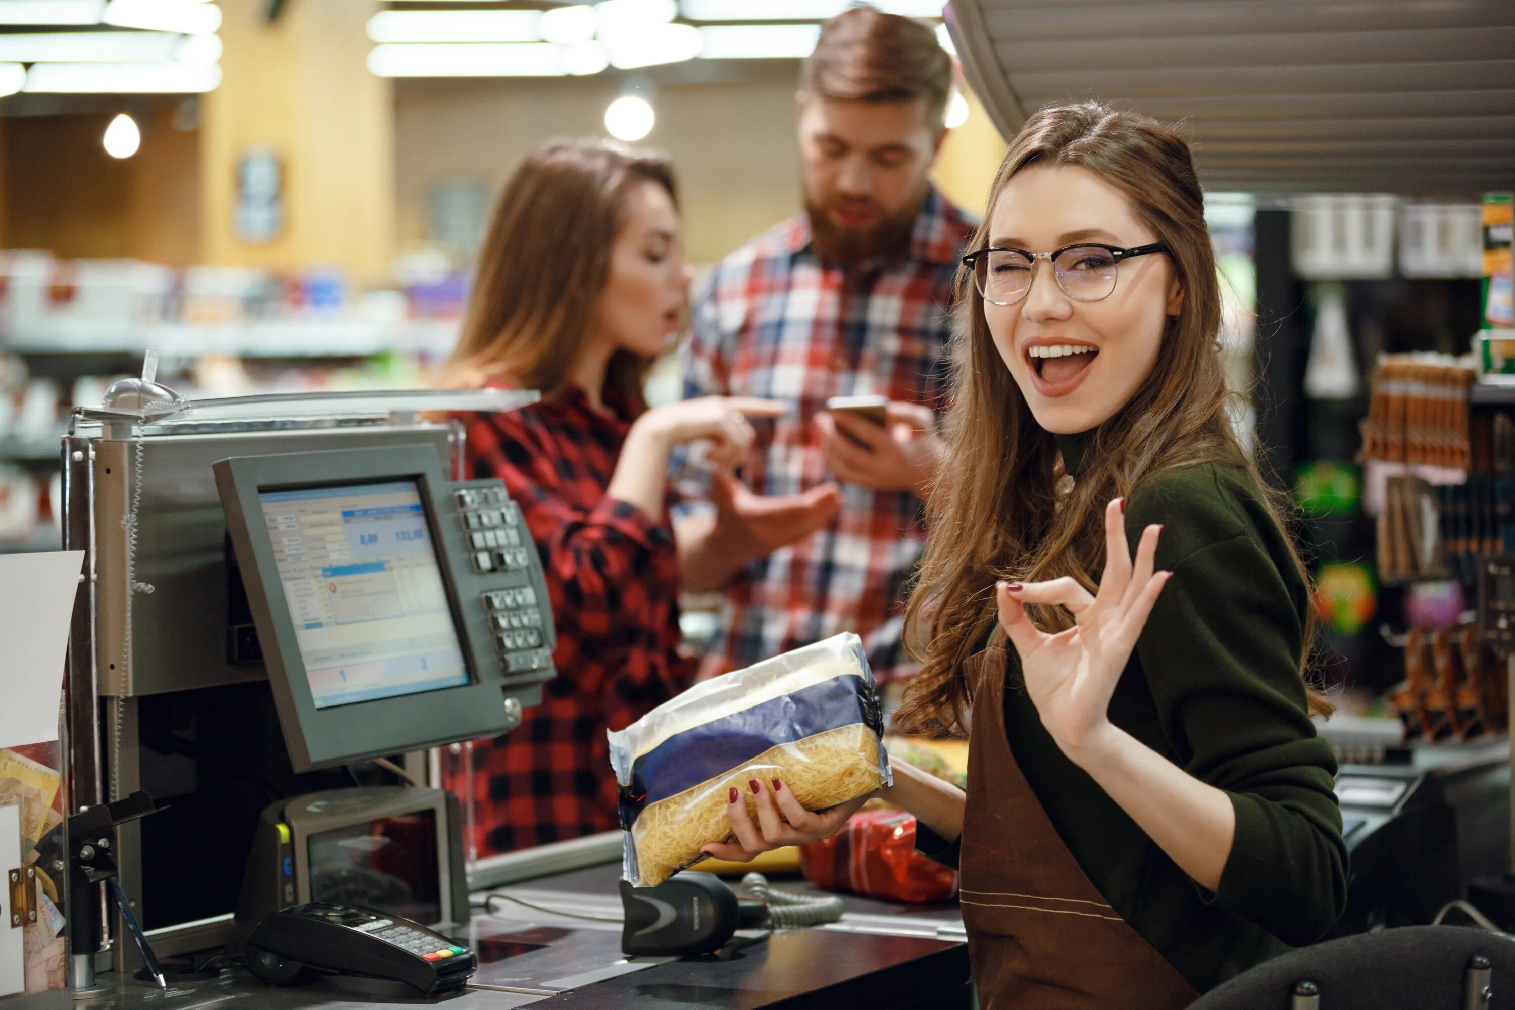
[[[821,260],[800,215],[717,265],[695,301],[683,395],[794,406],[785,418],[754,422],[759,442],[742,472],[754,491],[792,495],[827,480],[812,416],[829,397],[882,394],[941,409],[947,309],[971,230],[964,212],[932,189],[900,262],[844,268]],[[673,474],[680,486],[709,480],[688,451],[674,454]],[[839,631],[862,636],[880,680],[917,669],[900,636],[926,539],[921,501],[907,491],[842,491],[842,510],[827,528],[750,563],[727,588],[701,674]]]

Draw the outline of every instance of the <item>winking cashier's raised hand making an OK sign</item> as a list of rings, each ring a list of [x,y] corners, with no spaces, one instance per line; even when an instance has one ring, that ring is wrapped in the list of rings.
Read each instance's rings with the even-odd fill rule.
[[[1124,512],[1121,498],[1104,509],[1106,562],[1098,595],[1091,597],[1073,578],[997,586],[1000,624],[1020,653],[1026,690],[1042,725],[1074,763],[1110,736],[1110,695],[1173,574],[1153,572],[1160,525],[1142,531],[1132,563]],[[1035,603],[1067,607],[1074,627],[1042,631],[1023,606]]]

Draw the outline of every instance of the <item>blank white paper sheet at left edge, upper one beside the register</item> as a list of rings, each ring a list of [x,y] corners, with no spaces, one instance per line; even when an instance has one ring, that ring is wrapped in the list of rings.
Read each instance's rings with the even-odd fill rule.
[[[83,551],[0,554],[0,747],[58,739]]]

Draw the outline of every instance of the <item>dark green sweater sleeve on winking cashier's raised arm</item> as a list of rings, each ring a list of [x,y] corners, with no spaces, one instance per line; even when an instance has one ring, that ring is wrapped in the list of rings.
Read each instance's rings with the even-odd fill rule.
[[[1336,762],[1315,734],[1298,675],[1298,607],[1254,536],[1177,559],[1162,553],[1173,578],[1136,654],[1173,754],[1236,812],[1230,857],[1204,899],[1285,943],[1312,943],[1345,904],[1347,853]]]

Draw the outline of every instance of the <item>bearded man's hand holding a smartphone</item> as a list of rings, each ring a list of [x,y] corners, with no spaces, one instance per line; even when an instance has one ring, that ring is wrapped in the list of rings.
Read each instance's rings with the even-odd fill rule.
[[[874,491],[911,491],[924,498],[942,457],[936,418],[918,403],[897,400],[889,401],[886,416],[880,427],[844,412],[817,413],[826,462],[847,483]]]

